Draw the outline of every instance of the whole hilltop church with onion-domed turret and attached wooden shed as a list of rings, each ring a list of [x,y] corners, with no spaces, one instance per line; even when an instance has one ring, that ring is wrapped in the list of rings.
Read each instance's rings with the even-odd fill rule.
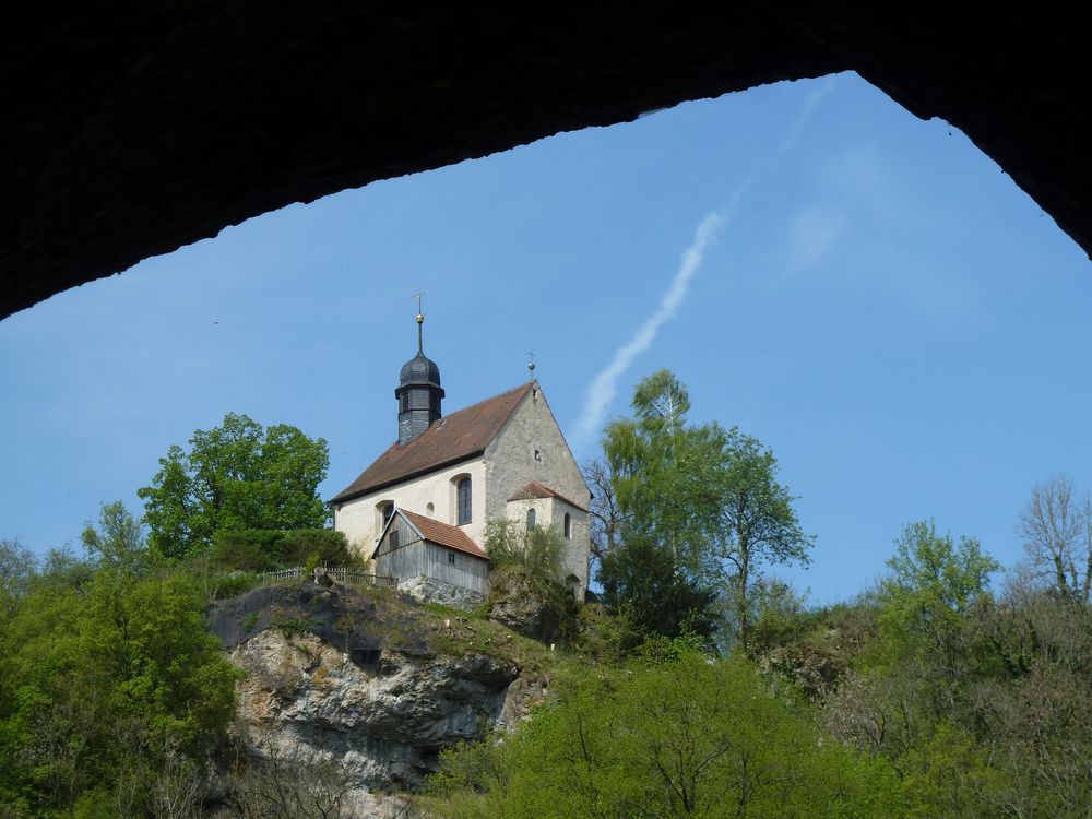
[[[473,602],[488,593],[486,521],[553,526],[562,579],[583,600],[592,495],[538,381],[444,415],[423,323],[394,390],[397,440],[331,500],[334,529],[416,596]]]

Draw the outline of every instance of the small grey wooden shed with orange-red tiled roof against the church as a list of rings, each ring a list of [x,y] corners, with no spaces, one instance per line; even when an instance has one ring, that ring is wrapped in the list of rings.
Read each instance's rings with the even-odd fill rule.
[[[376,573],[404,583],[431,578],[485,595],[489,558],[459,526],[395,508],[376,550]]]

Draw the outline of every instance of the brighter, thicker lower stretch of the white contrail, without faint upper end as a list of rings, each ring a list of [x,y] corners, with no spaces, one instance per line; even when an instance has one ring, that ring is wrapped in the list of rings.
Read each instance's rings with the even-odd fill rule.
[[[656,333],[660,332],[660,328],[675,318],[675,313],[678,312],[679,306],[682,304],[682,299],[686,298],[687,290],[690,288],[690,280],[693,278],[693,274],[701,266],[705,251],[716,239],[720,229],[735,214],[736,205],[746,187],[747,183],[744,182],[736,188],[736,192],[733,194],[732,201],[726,209],[713,211],[707,214],[701,221],[698,229],[695,230],[693,241],[690,242],[690,247],[682,253],[682,259],[679,262],[679,268],[672,280],[670,286],[664,293],[663,298],[660,299],[656,311],[645,320],[641,329],[633,334],[632,339],[618,348],[610,364],[600,371],[587,388],[584,411],[577,422],[578,449],[582,449],[589,438],[602,426],[607,405],[618,394],[618,379],[621,377],[621,373],[629,369],[629,365],[633,363],[637,356],[652,345]]]

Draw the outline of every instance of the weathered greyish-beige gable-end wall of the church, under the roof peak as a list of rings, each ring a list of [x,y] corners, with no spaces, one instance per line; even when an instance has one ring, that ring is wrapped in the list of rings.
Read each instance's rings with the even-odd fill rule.
[[[538,451],[538,458],[535,458],[535,450]],[[591,506],[591,490],[537,385],[527,393],[508,424],[486,449],[485,467],[486,515],[489,518],[512,517],[525,520],[527,507],[522,507],[521,514],[513,513],[508,499],[532,480],[548,486],[584,508]],[[583,592],[587,587],[587,556],[591,550],[587,513],[560,501],[541,500],[544,501],[542,508],[537,505],[535,507],[539,524],[553,525],[561,531],[565,513],[568,511],[572,515],[572,536],[569,538],[565,563],[566,571],[580,579],[580,591]],[[512,508],[517,508],[517,505]]]

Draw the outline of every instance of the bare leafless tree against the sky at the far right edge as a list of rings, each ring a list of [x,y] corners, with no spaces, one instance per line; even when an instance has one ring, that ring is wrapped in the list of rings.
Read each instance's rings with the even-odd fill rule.
[[[1092,583],[1092,498],[1079,499],[1071,478],[1059,475],[1032,488],[1017,531],[1028,569],[1066,600],[1089,602]]]

